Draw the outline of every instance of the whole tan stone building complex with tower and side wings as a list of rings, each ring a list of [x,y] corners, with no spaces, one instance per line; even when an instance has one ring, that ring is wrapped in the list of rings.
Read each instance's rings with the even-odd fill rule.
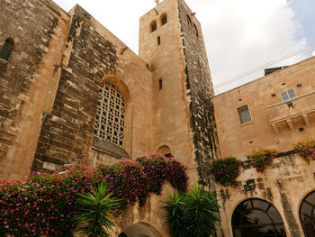
[[[201,25],[184,0],[165,0],[140,18],[139,55],[79,5],[69,13],[50,0],[0,6],[0,178],[161,152],[188,167],[190,184],[217,190],[218,236],[247,236],[232,225],[247,199],[252,209],[265,200],[265,213],[280,216],[269,224],[280,233],[270,236],[303,236],[313,161],[284,152],[257,174],[246,156],[260,146],[290,150],[315,132],[314,58],[213,96]],[[212,182],[211,159],[220,154],[243,160],[238,187]],[[168,236],[159,205],[151,196],[133,206],[112,236]],[[313,221],[303,224],[314,230]]]

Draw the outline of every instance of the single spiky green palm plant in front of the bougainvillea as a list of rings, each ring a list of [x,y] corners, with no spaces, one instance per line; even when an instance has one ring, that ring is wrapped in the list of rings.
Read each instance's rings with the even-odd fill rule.
[[[92,193],[79,195],[80,213],[76,216],[78,231],[88,237],[108,237],[112,214],[118,208],[119,200],[111,198],[108,187],[101,183]]]

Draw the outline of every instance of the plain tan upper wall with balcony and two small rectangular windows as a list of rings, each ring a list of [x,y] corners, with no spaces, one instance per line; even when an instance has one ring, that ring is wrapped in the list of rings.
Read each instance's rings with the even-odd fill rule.
[[[213,98],[223,157],[246,159],[254,149],[292,150],[315,133],[315,58],[261,77]],[[281,93],[294,89],[289,104]],[[238,122],[237,108],[248,105],[249,123]],[[273,128],[275,123],[275,128]]]

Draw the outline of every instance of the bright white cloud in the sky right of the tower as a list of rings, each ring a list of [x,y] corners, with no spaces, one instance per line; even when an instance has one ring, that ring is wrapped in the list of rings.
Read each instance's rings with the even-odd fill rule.
[[[202,23],[214,85],[305,46],[285,0],[187,0]],[[223,92],[246,81],[217,88]]]

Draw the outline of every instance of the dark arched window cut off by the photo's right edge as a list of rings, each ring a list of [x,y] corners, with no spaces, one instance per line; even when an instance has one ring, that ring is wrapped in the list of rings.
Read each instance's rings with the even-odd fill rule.
[[[300,219],[305,237],[315,236],[315,192],[303,199],[300,207]]]

